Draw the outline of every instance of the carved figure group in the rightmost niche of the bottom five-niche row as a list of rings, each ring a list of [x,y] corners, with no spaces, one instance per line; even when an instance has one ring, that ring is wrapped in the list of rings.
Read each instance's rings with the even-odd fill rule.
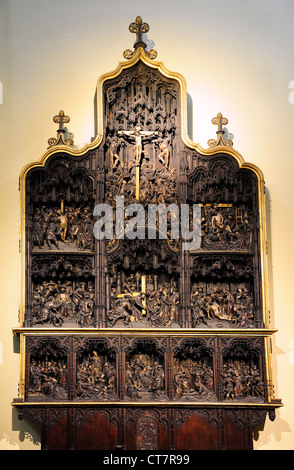
[[[258,367],[242,360],[228,360],[223,365],[223,398],[234,400],[264,396],[264,383]]]

